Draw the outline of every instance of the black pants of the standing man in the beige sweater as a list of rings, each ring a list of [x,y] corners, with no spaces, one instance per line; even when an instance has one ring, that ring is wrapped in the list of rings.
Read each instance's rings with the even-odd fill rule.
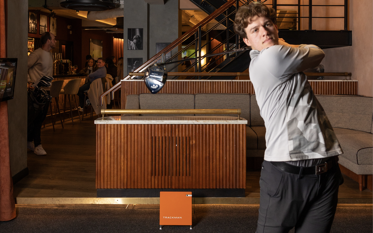
[[[49,94],[49,91],[47,91]],[[41,126],[46,119],[49,108],[49,102],[40,109],[36,109],[32,102],[27,103],[27,141],[34,141],[35,147],[41,144]]]

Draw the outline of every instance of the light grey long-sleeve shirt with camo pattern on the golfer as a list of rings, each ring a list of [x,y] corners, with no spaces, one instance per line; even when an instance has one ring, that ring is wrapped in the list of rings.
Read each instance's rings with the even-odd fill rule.
[[[332,126],[303,70],[320,64],[316,45],[273,45],[250,51],[250,79],[266,126],[267,161],[297,161],[342,154]]]

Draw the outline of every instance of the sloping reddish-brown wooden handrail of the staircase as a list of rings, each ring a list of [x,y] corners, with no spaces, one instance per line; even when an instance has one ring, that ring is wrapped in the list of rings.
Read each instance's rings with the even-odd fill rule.
[[[146,69],[148,66],[150,66],[151,64],[153,64],[159,58],[160,55],[162,55],[163,53],[166,54],[169,51],[171,51],[172,49],[174,49],[176,46],[178,46],[179,44],[181,44],[184,40],[186,40],[192,34],[194,34],[195,32],[197,32],[198,31],[198,27],[200,27],[200,26],[203,27],[203,26],[207,25],[207,23],[209,23],[210,21],[212,21],[213,19],[215,19],[217,16],[221,15],[223,12],[225,12],[228,9],[228,7],[232,6],[235,3],[236,3],[236,0],[230,0],[227,3],[225,3],[223,6],[221,6],[219,9],[216,9],[211,15],[207,16],[206,18],[204,18],[201,22],[199,22],[197,25],[195,25],[194,27],[192,27],[189,31],[185,32],[184,35],[182,35],[181,37],[179,37],[178,39],[176,39],[175,41],[173,41],[166,48],[164,48],[162,51],[160,51],[159,53],[157,53],[156,55],[154,55],[151,59],[149,59],[147,62],[145,62],[144,64],[142,64],[140,67],[138,67],[134,71],[135,72],[139,72],[141,70]],[[124,79],[128,79],[131,76],[132,75],[128,75]],[[100,106],[103,106],[103,97],[105,95],[109,94],[110,92],[114,93],[115,91],[117,91],[120,88],[119,84],[120,84],[120,82],[118,84],[114,85],[112,88],[110,88],[109,90],[107,90],[106,92],[104,92],[100,96]]]

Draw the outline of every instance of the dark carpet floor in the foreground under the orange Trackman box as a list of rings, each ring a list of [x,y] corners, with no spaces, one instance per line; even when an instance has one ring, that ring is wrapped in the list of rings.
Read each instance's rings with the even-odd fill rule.
[[[16,211],[15,219],[0,222],[0,233],[251,233],[258,218],[254,205],[195,205],[192,230],[189,226],[159,230],[159,209],[16,207]],[[372,208],[337,208],[331,232],[372,233],[372,217]]]

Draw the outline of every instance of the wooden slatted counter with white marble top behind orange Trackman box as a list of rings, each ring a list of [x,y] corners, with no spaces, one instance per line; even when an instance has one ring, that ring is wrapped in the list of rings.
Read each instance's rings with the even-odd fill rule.
[[[245,196],[245,119],[112,116],[95,124],[97,197]]]

